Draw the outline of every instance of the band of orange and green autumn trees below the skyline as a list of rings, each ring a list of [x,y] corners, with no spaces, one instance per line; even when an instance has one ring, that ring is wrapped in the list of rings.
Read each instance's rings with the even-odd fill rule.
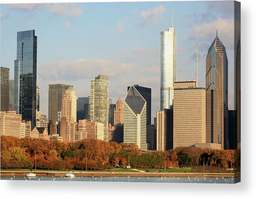
[[[236,156],[236,157],[235,157]],[[25,137],[1,136],[1,168],[35,168],[46,170],[105,170],[119,165],[133,168],[177,168],[215,166],[233,168],[240,164],[240,153],[179,147],[169,151],[142,152],[136,144],[84,139],[63,143]]]

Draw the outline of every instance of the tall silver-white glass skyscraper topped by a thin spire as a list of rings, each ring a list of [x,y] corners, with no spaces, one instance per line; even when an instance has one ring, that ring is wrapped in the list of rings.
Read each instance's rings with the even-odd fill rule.
[[[173,84],[176,82],[176,28],[173,22],[168,31],[161,32],[160,67],[160,110],[164,110],[173,104]]]

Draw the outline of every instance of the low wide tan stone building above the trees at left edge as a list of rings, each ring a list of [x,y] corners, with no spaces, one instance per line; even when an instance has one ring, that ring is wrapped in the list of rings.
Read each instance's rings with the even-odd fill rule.
[[[21,115],[16,111],[1,111],[1,135],[21,138]]]

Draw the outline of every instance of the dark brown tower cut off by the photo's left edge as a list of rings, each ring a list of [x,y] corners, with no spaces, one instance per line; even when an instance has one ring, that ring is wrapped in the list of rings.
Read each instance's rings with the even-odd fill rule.
[[[9,70],[1,67],[1,111],[9,110]]]

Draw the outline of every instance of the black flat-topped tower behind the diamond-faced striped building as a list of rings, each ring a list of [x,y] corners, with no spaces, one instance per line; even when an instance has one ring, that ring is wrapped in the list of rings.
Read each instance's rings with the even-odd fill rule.
[[[142,97],[147,102],[147,125],[151,124],[151,88],[146,88],[139,85],[133,85],[137,91],[142,95]],[[127,88],[127,92],[129,91],[130,86]]]

